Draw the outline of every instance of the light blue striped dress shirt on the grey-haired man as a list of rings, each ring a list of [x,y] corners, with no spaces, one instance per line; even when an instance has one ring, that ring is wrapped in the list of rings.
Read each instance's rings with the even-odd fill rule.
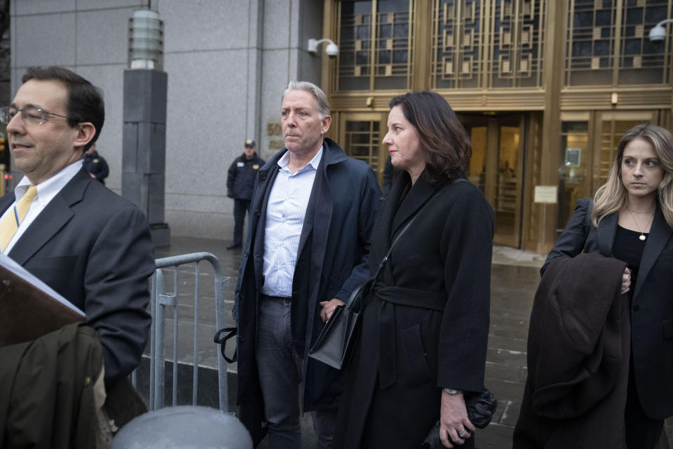
[[[264,227],[264,286],[261,293],[269,296],[292,296],[294,266],[297,264],[299,237],[304,227],[308,199],[322,147],[303,168],[292,173],[287,168],[290,152],[278,159],[278,175],[271,187],[266,206]]]

